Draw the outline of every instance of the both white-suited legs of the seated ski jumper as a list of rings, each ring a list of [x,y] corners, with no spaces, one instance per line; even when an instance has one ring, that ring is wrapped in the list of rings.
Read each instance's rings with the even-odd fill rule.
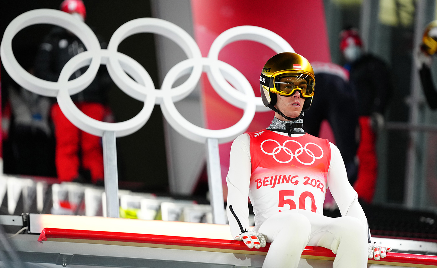
[[[297,268],[306,245],[331,249],[336,254],[333,268],[367,267],[367,226],[354,217],[288,210],[268,218],[258,232],[273,241],[263,268]]]

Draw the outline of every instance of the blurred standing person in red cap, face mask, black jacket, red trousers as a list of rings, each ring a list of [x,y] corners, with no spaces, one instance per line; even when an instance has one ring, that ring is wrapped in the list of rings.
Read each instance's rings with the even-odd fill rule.
[[[340,33],[340,51],[350,72],[350,85],[357,94],[360,142],[357,149],[358,171],[354,189],[358,197],[371,203],[376,178],[376,134],[384,125],[384,111],[392,92],[392,74],[387,64],[363,52],[363,43],[354,29]]]

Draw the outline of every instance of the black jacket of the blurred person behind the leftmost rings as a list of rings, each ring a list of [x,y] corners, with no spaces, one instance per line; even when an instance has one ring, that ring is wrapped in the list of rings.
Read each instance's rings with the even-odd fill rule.
[[[107,44],[102,41],[99,36],[101,48],[106,48]],[[64,28],[54,27],[48,35],[43,39],[39,46],[38,53],[35,58],[35,75],[41,79],[48,81],[58,81],[64,65],[80,52],[87,49],[82,41],[74,34]],[[72,74],[69,80],[75,79],[83,74],[88,67],[83,67]],[[94,81],[86,89],[71,96],[76,102],[106,102],[106,92],[111,85],[111,78],[104,66],[101,66],[97,72]]]

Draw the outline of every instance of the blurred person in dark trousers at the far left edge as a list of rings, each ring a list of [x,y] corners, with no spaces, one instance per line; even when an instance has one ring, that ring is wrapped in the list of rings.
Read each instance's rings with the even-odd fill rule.
[[[26,53],[26,56],[27,55]],[[33,68],[24,66],[33,74]],[[54,143],[50,122],[50,98],[32,93],[17,83],[7,89],[2,111],[5,172],[55,176]]]

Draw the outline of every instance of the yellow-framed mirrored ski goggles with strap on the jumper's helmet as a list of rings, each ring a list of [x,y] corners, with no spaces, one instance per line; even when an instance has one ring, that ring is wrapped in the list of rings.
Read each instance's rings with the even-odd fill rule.
[[[296,90],[299,90],[304,98],[314,96],[314,77],[304,71],[282,71],[271,77],[261,73],[260,83],[268,87],[272,93],[282,96],[291,96]]]

